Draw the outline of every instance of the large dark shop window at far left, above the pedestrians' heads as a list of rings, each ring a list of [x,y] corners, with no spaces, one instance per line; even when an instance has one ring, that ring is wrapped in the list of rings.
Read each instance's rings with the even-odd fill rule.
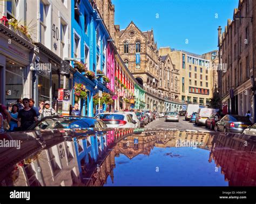
[[[24,67],[14,62],[6,62],[5,67],[5,105],[11,107],[17,99],[23,98],[25,81]]]

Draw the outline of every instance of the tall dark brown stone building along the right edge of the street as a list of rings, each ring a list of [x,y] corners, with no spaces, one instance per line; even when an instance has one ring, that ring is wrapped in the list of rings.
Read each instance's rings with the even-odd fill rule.
[[[253,0],[239,1],[233,20],[218,28],[219,85],[224,113],[253,111]],[[255,2],[254,2],[255,3]],[[255,114],[252,115],[255,119]]]

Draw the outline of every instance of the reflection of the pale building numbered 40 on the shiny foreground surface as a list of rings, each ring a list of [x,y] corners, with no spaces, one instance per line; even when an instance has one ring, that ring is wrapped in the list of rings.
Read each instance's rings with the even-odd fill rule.
[[[1,186],[78,186],[74,143],[63,141],[19,161]]]

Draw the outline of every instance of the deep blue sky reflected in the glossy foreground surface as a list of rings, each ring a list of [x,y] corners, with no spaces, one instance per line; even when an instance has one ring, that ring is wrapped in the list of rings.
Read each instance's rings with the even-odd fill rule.
[[[105,186],[228,186],[209,151],[193,147],[154,147],[150,155],[116,158],[114,182]]]

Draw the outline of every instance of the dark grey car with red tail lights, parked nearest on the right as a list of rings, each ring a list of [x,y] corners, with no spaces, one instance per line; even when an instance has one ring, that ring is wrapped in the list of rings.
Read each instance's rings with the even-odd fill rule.
[[[252,122],[246,116],[225,115],[215,125],[215,131],[242,133]]]

